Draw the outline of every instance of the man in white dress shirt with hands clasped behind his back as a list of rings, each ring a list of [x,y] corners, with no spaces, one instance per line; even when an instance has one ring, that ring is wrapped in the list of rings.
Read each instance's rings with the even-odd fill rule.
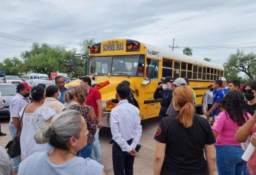
[[[118,105],[111,111],[111,133],[113,142],[112,159],[115,175],[134,174],[135,148],[140,142],[142,126],[140,110],[128,103],[131,89],[120,83],[116,87]]]

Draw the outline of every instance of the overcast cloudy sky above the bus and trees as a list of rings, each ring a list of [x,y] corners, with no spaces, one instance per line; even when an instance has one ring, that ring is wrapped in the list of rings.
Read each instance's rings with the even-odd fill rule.
[[[223,64],[237,49],[256,53],[256,1],[0,0],[0,62],[33,42],[71,49],[84,39],[127,38]],[[171,49],[170,49],[171,50]]]

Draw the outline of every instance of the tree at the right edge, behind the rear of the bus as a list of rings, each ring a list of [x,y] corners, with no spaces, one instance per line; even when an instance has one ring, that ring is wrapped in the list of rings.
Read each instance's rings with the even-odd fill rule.
[[[235,76],[239,72],[246,73],[249,79],[254,79],[256,75],[256,55],[248,53],[247,55],[240,50],[229,56],[227,62],[224,63],[226,73],[229,76]]]

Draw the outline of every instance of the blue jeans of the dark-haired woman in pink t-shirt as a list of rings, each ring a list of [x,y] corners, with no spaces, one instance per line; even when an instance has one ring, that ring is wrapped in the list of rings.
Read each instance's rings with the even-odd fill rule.
[[[243,149],[235,145],[216,145],[216,165],[219,175],[248,174],[246,162],[241,158]]]

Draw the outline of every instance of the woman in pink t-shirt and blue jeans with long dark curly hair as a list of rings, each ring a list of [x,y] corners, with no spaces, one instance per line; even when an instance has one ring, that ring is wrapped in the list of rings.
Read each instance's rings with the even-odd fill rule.
[[[251,117],[246,113],[243,93],[230,91],[222,102],[224,111],[217,116],[212,126],[216,138],[216,164],[219,175],[240,175],[247,172],[246,162],[241,159],[243,148],[234,139],[237,128]]]

